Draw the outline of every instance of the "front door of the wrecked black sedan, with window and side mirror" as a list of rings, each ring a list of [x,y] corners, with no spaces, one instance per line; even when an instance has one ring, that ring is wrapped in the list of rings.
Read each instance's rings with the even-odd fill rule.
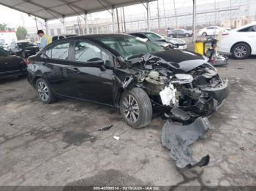
[[[113,55],[87,40],[76,40],[72,55],[67,74],[77,98],[113,105]]]

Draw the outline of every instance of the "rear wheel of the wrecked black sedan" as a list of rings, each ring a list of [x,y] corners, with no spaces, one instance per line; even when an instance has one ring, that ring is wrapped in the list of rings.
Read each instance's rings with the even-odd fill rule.
[[[42,78],[37,79],[36,91],[37,91],[37,96],[42,101],[42,103],[51,104],[53,103],[53,101],[56,101],[56,98],[53,95],[53,92],[50,89],[48,82],[45,81],[45,79],[42,79]]]

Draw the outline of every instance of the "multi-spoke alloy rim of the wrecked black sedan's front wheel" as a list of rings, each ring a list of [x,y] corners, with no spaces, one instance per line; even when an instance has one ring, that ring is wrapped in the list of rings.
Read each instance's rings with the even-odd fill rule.
[[[127,95],[123,102],[124,116],[129,122],[137,122],[140,114],[140,109],[136,99],[132,95]]]

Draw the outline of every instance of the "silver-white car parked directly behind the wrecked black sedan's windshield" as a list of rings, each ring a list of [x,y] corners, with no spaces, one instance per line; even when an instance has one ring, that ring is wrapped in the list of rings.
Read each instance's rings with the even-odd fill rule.
[[[161,47],[165,48],[178,48],[181,50],[187,49],[187,43],[182,39],[174,39],[169,37],[164,37],[159,34],[153,33],[153,32],[136,32],[131,33],[130,35],[138,36],[141,39],[148,39],[151,42],[154,42],[155,44],[158,44]]]

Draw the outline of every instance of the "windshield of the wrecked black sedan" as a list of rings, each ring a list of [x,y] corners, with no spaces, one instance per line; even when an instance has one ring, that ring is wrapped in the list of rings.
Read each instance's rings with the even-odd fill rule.
[[[146,53],[154,53],[164,50],[157,44],[149,41],[143,42],[140,38],[135,38],[133,36],[109,37],[99,39],[99,41],[113,50],[116,50],[124,60],[128,60],[135,55],[145,55]]]

